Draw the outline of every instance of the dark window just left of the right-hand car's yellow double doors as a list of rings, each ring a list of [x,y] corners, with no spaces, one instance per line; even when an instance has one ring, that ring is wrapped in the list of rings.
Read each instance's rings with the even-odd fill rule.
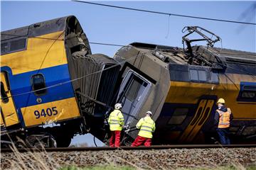
[[[185,120],[188,114],[188,108],[176,108],[171,119],[168,121],[169,125],[180,125]]]

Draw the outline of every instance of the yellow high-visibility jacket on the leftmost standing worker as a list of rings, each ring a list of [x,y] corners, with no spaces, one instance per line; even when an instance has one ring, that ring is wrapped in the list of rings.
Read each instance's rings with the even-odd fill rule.
[[[111,131],[122,130],[122,125],[124,125],[124,116],[121,111],[115,109],[110,113],[110,117],[107,122],[110,124]]]

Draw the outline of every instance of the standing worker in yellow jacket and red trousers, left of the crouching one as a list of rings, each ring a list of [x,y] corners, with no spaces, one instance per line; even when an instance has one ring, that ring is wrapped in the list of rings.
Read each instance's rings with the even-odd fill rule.
[[[111,137],[110,147],[119,147],[121,131],[124,125],[124,115],[122,115],[122,104],[116,103],[114,105],[114,111],[110,113],[110,117],[107,122],[110,125]]]

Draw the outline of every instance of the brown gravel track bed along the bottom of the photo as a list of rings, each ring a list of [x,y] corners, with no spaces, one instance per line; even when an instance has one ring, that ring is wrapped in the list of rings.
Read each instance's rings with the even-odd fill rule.
[[[256,145],[154,145],[152,147],[68,147],[46,149],[1,149],[1,169],[48,169],[75,165],[135,166],[139,169],[199,168],[218,169],[219,166],[256,165]],[[31,151],[31,152],[28,152]],[[43,152],[42,152],[43,151]],[[47,159],[46,159],[47,158]],[[19,160],[19,161],[18,161]],[[38,160],[41,160],[40,162]],[[217,167],[217,168],[216,168]]]

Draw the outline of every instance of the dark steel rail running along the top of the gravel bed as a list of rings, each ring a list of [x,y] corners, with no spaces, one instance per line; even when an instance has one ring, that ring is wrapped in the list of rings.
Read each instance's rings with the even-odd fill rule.
[[[83,151],[107,151],[107,150],[150,150],[150,149],[207,149],[207,148],[256,148],[256,145],[154,145],[151,147],[51,147],[51,148],[23,148],[18,152],[83,152]],[[3,148],[1,153],[13,152]]]

